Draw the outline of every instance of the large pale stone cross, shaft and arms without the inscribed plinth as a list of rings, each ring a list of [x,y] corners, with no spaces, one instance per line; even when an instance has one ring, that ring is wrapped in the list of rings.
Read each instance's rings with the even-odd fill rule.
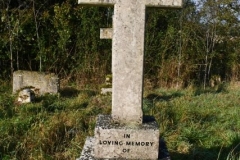
[[[112,41],[112,118],[142,123],[146,7],[178,7],[182,0],[78,0],[79,4],[114,6]]]

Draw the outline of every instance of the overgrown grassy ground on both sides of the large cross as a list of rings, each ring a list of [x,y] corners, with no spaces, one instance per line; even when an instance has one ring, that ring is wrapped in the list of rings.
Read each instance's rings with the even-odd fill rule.
[[[11,86],[0,84],[1,160],[74,160],[96,116],[111,113],[111,96],[100,89],[68,87],[19,105]],[[239,85],[145,89],[143,111],[156,118],[172,160],[240,159]]]

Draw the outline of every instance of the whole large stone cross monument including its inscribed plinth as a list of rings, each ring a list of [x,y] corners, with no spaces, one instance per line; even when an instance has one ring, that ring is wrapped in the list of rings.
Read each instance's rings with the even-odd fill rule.
[[[181,7],[182,0],[79,0],[79,4],[114,6],[112,36],[112,114],[97,119],[80,160],[158,159],[159,129],[142,112],[146,7]],[[111,33],[112,32],[112,33]]]

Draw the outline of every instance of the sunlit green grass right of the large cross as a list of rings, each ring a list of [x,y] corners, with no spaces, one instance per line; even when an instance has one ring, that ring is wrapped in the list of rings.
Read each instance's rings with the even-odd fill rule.
[[[239,157],[240,92],[236,88],[225,89],[227,92],[189,88],[145,93],[144,111],[159,122],[160,135],[166,140],[172,159]]]

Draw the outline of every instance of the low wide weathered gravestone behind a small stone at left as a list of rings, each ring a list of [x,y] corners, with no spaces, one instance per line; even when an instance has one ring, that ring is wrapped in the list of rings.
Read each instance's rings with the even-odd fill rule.
[[[13,93],[23,88],[31,88],[36,95],[56,94],[59,91],[59,78],[53,73],[15,71],[13,73]]]

